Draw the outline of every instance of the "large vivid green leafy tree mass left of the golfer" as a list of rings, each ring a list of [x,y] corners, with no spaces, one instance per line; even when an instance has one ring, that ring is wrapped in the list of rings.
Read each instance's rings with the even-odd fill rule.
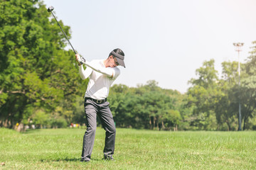
[[[27,123],[33,111],[50,115],[62,104],[60,115],[70,119],[87,81],[73,52],[64,50],[58,24],[41,1],[1,1],[0,9],[0,124]],[[70,38],[70,28],[60,25]]]

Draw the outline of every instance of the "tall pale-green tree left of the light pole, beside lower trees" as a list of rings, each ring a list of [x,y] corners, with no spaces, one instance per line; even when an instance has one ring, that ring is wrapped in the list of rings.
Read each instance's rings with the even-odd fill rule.
[[[215,104],[214,96],[218,94],[218,72],[214,68],[214,60],[203,62],[203,67],[196,69],[198,79],[189,81],[192,87],[188,89],[188,107],[193,107],[193,119],[191,125],[205,130],[213,118]]]

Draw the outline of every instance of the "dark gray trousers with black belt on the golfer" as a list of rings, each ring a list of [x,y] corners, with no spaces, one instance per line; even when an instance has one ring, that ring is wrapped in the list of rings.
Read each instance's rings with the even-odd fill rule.
[[[103,150],[104,157],[112,157],[114,154],[116,129],[109,105],[110,103],[107,101],[98,104],[95,101],[85,98],[84,106],[87,130],[85,131],[82,143],[82,160],[84,161],[90,161],[92,155],[92,148],[94,145],[97,128],[97,115],[101,120],[102,127],[106,131],[105,148]]]

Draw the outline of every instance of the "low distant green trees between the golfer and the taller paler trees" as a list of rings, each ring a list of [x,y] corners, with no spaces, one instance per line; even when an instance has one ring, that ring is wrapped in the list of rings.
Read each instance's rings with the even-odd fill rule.
[[[117,127],[169,130],[181,123],[178,98],[177,91],[161,89],[152,80],[137,88],[114,85],[108,100]]]

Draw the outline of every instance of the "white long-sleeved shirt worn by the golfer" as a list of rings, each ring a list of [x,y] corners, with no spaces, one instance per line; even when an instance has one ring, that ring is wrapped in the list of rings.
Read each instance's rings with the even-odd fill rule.
[[[80,77],[87,79],[89,82],[85,92],[85,97],[102,100],[107,98],[110,93],[110,86],[120,74],[117,67],[105,67],[104,60],[92,60],[92,62],[85,62],[86,69],[82,65],[79,67]],[[97,71],[95,71],[97,70]],[[113,74],[113,78],[111,77]]]

